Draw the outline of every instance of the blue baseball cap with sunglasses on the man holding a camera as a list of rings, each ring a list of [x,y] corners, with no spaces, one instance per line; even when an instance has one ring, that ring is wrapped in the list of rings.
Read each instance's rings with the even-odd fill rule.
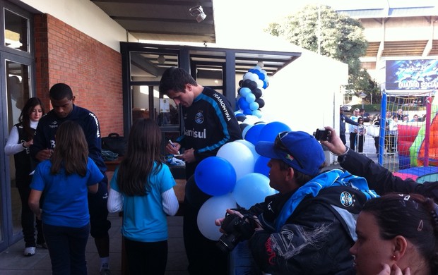
[[[308,176],[316,176],[326,160],[322,145],[313,135],[301,131],[279,133],[274,142],[259,141],[256,152],[263,157],[280,159]]]

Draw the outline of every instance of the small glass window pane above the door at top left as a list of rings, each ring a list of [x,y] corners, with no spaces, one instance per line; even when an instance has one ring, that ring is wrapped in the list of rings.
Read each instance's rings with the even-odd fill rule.
[[[27,18],[4,9],[4,43],[6,47],[29,51],[29,22]]]

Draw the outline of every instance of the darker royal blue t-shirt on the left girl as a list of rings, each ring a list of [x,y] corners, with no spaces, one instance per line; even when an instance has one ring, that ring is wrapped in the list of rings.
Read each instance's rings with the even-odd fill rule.
[[[102,181],[103,174],[93,159],[88,158],[87,174],[66,176],[64,168],[50,173],[50,160],[40,162],[30,184],[42,191],[42,222],[52,226],[82,227],[90,221],[88,213],[88,185]]]

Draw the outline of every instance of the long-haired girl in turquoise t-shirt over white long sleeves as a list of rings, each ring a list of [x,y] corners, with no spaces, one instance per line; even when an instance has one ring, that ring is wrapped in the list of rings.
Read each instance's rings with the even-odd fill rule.
[[[167,215],[178,210],[176,184],[161,155],[157,123],[140,118],[129,133],[128,152],[114,171],[108,211],[123,210],[122,235],[129,274],[165,274]]]

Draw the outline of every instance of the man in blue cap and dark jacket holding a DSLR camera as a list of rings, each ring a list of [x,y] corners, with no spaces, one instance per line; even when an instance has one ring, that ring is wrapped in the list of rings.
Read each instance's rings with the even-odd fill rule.
[[[215,221],[224,233],[218,245],[232,250],[249,239],[254,262],[268,274],[354,274],[355,216],[377,196],[365,179],[339,169],[321,172],[321,144],[300,131],[257,142],[256,152],[271,159],[269,184],[279,193],[249,210],[227,209]],[[235,216],[241,220],[230,226]]]

